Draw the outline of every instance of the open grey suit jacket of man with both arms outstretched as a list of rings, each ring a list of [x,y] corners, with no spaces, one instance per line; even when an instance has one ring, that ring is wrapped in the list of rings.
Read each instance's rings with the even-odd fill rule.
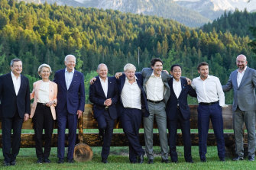
[[[153,69],[151,69],[151,68],[144,68],[141,71],[141,75],[143,77],[143,88],[144,88],[146,95],[147,95],[146,83],[147,83],[147,80],[151,77],[152,72],[153,72]],[[161,79],[164,83],[164,103],[167,104],[167,101],[170,97],[170,87],[168,85],[168,79],[170,79],[170,75],[167,75],[166,72],[162,71]]]

